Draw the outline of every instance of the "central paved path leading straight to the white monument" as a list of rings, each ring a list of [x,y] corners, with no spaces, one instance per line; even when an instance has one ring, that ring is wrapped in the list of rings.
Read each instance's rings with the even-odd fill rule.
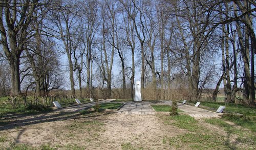
[[[155,115],[151,109],[150,102],[127,102],[118,114]]]

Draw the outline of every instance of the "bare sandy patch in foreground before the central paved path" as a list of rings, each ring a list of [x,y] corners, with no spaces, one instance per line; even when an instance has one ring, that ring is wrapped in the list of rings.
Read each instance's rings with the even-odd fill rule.
[[[163,138],[183,133],[179,128],[165,126],[154,115],[113,114],[105,118],[104,122],[106,131],[100,139],[107,149],[121,149],[125,143],[131,143],[136,149],[169,149],[168,144],[163,144]]]

